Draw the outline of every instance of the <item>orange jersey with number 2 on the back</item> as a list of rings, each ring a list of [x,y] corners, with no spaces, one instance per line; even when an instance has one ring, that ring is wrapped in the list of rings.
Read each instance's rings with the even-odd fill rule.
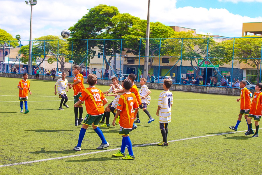
[[[134,123],[134,109],[139,108],[136,96],[126,92],[120,96],[117,110],[121,111],[119,125],[124,129],[131,129]]]

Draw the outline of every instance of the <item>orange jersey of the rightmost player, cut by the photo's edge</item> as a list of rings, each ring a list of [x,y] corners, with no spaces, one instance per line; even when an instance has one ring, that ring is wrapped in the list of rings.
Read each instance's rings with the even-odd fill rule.
[[[258,92],[258,93],[255,92],[249,114],[261,115],[261,111],[262,111],[262,92]]]

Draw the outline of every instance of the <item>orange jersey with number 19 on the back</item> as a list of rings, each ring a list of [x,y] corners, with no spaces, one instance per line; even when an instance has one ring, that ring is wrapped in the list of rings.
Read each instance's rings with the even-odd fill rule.
[[[90,115],[101,115],[104,113],[104,99],[104,93],[95,86],[84,89],[79,97],[80,101],[85,101],[86,112]]]

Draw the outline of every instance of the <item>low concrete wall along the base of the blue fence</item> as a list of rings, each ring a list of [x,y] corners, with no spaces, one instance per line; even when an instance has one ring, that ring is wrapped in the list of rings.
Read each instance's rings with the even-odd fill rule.
[[[23,78],[22,74],[8,74],[0,72],[0,77],[9,77],[9,78]],[[56,77],[56,80],[61,77]],[[29,75],[29,79],[35,79],[35,75]],[[68,82],[73,82],[73,77],[66,77]],[[48,80],[52,81],[53,78],[51,76],[39,76],[39,80]],[[84,79],[85,87],[87,87],[86,78]],[[109,85],[111,83],[111,80],[101,80],[98,79],[97,84],[98,85]],[[141,87],[139,82],[135,82],[138,88]],[[163,89],[163,83],[146,83],[149,89]],[[240,96],[240,89],[235,88],[224,88],[224,87],[204,87],[204,86],[196,86],[196,85],[178,85],[173,84],[170,90],[175,91],[185,91],[185,92],[201,92],[201,93],[212,93],[212,94],[222,94],[222,95],[237,95]],[[255,90],[250,90],[253,94]]]

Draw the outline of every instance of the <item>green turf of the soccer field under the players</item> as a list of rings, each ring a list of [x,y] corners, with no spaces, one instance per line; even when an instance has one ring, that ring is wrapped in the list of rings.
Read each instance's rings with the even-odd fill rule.
[[[18,78],[0,77],[0,165],[98,151],[95,148],[101,141],[91,128],[86,131],[81,151],[72,150],[77,144],[81,127],[74,125],[72,90],[68,93],[70,101],[67,104],[70,107],[59,111],[60,100],[54,95],[55,82],[30,80],[30,112],[23,114],[18,102],[19,81]],[[109,88],[96,86],[102,91]],[[139,110],[141,123],[130,133],[134,146],[162,140],[155,116],[157,99],[162,90],[151,91],[148,111],[156,120],[147,124],[146,114]],[[173,95],[169,141],[232,131],[229,126],[235,125],[237,120],[240,107],[240,103],[236,102],[238,97],[178,91],[173,91]],[[113,100],[112,97],[107,99],[109,102]],[[110,144],[106,149],[120,150],[119,126],[101,129]],[[242,120],[239,131],[246,129],[246,122]],[[244,136],[244,132],[232,132],[174,141],[167,147],[134,147],[134,161],[112,157],[117,152],[113,150],[0,167],[0,174],[261,174],[261,147],[260,137],[251,138]]]

